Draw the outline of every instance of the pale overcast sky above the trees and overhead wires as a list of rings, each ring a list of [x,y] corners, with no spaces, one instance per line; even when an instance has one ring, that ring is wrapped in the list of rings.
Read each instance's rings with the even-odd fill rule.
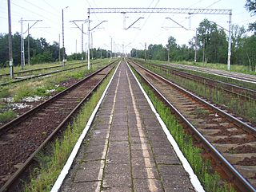
[[[82,27],[86,20],[88,8],[193,8],[232,10],[231,22],[247,29],[248,24],[255,22],[256,17],[250,16],[245,8],[246,0],[10,0],[12,33],[20,33],[21,18],[24,20],[42,20],[31,29],[30,35],[34,38],[43,37],[52,44],[59,41],[62,46],[62,9],[64,15],[64,37],[66,53],[81,53],[87,49],[88,35],[83,36],[77,25]],[[8,33],[7,0],[0,0],[0,33]],[[68,6],[68,7],[67,7]],[[67,7],[67,8],[66,8]],[[138,18],[140,18],[138,20]],[[166,18],[171,18],[166,19]],[[216,14],[90,14],[90,29],[98,25],[90,34],[90,46],[94,48],[111,49],[112,51],[130,53],[132,48],[144,49],[146,45],[166,45],[168,37],[173,36],[178,45],[186,44],[195,34],[195,29],[204,18],[216,22],[228,29],[229,15]],[[127,28],[136,20],[134,25]],[[178,25],[178,24],[179,25]],[[24,21],[23,31],[28,24],[34,21]],[[87,33],[88,24],[84,23],[84,32]],[[181,27],[183,26],[183,28]],[[185,29],[186,28],[186,29]],[[24,34],[27,36],[27,33]],[[26,49],[26,48],[25,48]]]

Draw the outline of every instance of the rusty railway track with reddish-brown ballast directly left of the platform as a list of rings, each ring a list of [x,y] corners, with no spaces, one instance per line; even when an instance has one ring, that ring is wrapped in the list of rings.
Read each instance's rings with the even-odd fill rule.
[[[10,189],[87,100],[117,61],[80,80],[17,119],[0,127],[0,191]]]

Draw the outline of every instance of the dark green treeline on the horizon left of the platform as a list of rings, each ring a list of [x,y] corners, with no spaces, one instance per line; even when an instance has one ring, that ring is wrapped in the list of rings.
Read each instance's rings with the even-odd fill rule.
[[[9,66],[9,41],[8,34],[0,33],[0,67]],[[50,45],[45,38],[34,39],[30,38],[30,64],[40,64],[47,62],[58,61],[59,58],[62,61],[62,48],[59,49],[58,42]],[[21,36],[19,33],[15,33],[12,36],[13,41],[13,60],[14,66],[21,65]],[[24,49],[25,49],[25,62],[28,63],[28,37],[24,38]],[[106,49],[90,49],[90,58],[107,58],[107,57],[117,57],[121,53],[111,53],[110,50]],[[87,59],[86,53],[73,53],[69,56],[65,53],[65,58],[67,60],[84,60]]]

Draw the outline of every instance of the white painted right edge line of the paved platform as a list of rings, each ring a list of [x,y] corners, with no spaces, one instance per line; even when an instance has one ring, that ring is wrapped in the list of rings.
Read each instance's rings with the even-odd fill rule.
[[[128,65],[129,69],[130,66]],[[130,72],[132,72],[132,70],[130,69]],[[167,139],[169,140],[170,144],[174,147],[174,151],[176,152],[178,159],[180,159],[180,161],[182,162],[182,166],[184,167],[184,169],[186,170],[186,172],[190,175],[190,182],[192,183],[192,185],[194,186],[194,189],[198,192],[205,192],[205,190],[203,189],[201,182],[199,181],[198,177],[196,174],[194,174],[194,170],[192,169],[192,167],[190,167],[190,163],[186,160],[185,156],[182,154],[182,151],[179,149],[178,144],[176,143],[176,141],[174,140],[174,137],[172,135],[170,135],[170,131],[168,130],[168,128],[166,127],[166,124],[163,122],[163,120],[161,119],[161,117],[159,116],[158,112],[156,111],[156,109],[154,108],[154,105],[152,104],[149,96],[146,95],[146,92],[144,91],[144,89],[142,88],[142,85],[140,84],[140,82],[138,81],[137,77],[134,75],[134,72],[132,72],[135,80],[138,83],[139,88],[141,88],[144,96],[146,97],[147,102],[150,104],[150,108],[151,110],[154,112],[155,116],[158,119],[158,122],[161,124],[162,130],[165,132]]]

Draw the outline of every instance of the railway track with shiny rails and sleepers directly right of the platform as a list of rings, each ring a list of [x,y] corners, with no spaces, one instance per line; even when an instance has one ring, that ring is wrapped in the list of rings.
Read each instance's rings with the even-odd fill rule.
[[[256,130],[213,104],[130,61],[238,191],[256,191]]]

